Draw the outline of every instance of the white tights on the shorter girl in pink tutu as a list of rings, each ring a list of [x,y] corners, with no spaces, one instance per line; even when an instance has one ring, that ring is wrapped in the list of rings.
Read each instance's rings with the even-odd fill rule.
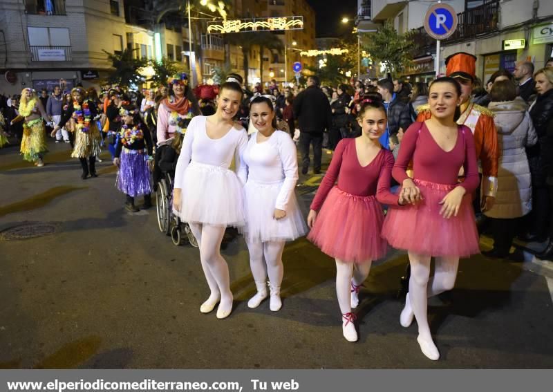
[[[336,295],[342,314],[351,312],[351,283],[360,286],[371,271],[372,261],[353,264],[336,259]]]

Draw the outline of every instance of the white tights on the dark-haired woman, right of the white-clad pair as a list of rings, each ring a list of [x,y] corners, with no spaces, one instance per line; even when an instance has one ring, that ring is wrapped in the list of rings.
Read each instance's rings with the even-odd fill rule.
[[[282,252],[284,241],[250,242],[246,241],[247,250],[250,252],[250,268],[256,283],[263,283],[267,275],[275,288],[279,288],[284,276]],[[265,259],[265,261],[263,261]]]

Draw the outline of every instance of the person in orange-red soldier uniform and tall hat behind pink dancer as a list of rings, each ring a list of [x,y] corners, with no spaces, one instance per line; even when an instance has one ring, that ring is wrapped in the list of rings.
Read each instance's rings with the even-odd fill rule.
[[[483,106],[471,102],[472,84],[476,76],[476,57],[468,53],[456,53],[445,59],[446,75],[456,78],[461,85],[461,115],[457,120],[466,125],[474,134],[476,157],[482,168],[480,185],[480,208],[482,212],[494,206],[497,194],[497,170],[500,156],[494,113]],[[428,104],[418,107],[417,121],[431,118]]]

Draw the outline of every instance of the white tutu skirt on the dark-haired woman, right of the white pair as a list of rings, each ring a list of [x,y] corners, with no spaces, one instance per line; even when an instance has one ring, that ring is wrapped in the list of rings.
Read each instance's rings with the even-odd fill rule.
[[[286,216],[273,218],[274,205],[282,187],[277,183],[256,183],[247,180],[244,187],[246,225],[243,229],[248,242],[292,241],[307,233],[307,226],[292,194],[286,206]]]

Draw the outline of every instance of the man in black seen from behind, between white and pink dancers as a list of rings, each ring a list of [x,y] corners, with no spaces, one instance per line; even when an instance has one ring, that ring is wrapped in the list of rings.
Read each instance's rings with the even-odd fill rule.
[[[315,75],[307,80],[307,88],[294,99],[294,118],[299,123],[299,150],[301,151],[301,173],[309,169],[309,145],[313,144],[313,173],[321,172],[323,154],[323,132],[332,126],[332,112],[328,97],[319,88]]]

